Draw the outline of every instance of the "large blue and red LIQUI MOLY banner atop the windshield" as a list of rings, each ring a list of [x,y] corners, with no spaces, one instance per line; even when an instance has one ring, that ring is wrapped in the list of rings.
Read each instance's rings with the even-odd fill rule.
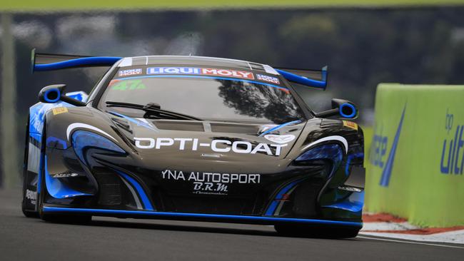
[[[228,76],[234,78],[246,78],[253,80],[253,73],[248,71],[236,71],[221,68],[196,68],[196,67],[150,67],[146,74],[199,74],[209,76]]]

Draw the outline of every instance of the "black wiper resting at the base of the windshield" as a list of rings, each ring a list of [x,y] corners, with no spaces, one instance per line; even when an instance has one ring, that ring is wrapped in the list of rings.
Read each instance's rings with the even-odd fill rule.
[[[146,105],[136,104],[136,103],[121,103],[118,101],[106,101],[107,107],[123,107],[123,108],[135,108],[142,111],[145,111],[145,115],[155,114],[158,118],[172,118],[172,119],[181,119],[188,121],[203,121],[201,118],[196,118],[182,113],[176,113],[175,111],[168,111],[161,109],[158,103],[148,103]]]

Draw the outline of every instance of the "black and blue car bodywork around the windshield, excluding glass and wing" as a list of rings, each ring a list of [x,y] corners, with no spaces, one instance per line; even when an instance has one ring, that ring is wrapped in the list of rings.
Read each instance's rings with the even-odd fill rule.
[[[174,60],[156,63],[266,73],[235,60]],[[98,105],[118,64],[87,106],[31,107],[27,212],[362,226],[363,132],[355,123],[316,118],[305,108],[305,121],[261,135],[259,123],[130,117]]]

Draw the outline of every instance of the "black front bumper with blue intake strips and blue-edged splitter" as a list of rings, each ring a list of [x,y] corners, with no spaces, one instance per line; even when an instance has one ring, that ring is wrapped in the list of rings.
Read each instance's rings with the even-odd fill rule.
[[[327,160],[291,164],[276,173],[230,174],[248,177],[249,182],[243,180],[243,183],[224,184],[212,178],[212,188],[226,190],[211,193],[197,190],[196,184],[198,181],[207,184],[206,173],[213,177],[215,171],[219,176],[229,175],[221,174],[219,170],[230,169],[231,163],[225,162],[221,166],[216,162],[208,165],[206,161],[198,161],[195,168],[177,165],[153,168],[159,164],[143,168],[146,161],[108,155],[95,148],[86,150],[89,155],[86,165],[68,150],[54,150],[49,154],[50,160],[46,160],[44,166],[46,180],[54,180],[56,184],[45,184],[48,193],[44,197],[44,211],[218,222],[348,222],[362,225],[363,191],[340,189],[346,181],[348,168],[332,168]],[[343,161],[344,164],[347,163]],[[171,170],[177,174],[172,174]],[[179,178],[181,170],[185,174]],[[64,172],[79,175],[50,176]],[[193,173],[196,178],[190,180]],[[69,195],[66,190],[63,197],[51,193],[66,187],[83,193],[66,196]]]

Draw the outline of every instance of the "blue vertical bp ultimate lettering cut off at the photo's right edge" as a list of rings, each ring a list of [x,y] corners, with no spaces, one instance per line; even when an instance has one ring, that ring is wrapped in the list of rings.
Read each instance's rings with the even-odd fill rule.
[[[448,135],[443,139],[440,172],[443,174],[463,175],[464,170],[464,125],[458,125],[453,131],[454,115],[446,110],[445,130]]]

